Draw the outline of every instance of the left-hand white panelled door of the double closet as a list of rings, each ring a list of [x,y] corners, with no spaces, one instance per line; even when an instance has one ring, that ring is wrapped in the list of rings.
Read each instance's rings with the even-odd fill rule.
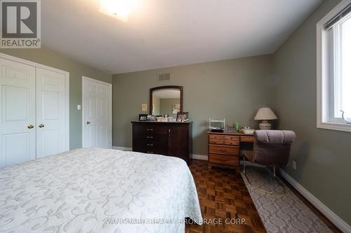
[[[0,66],[0,167],[6,167],[35,160],[35,68],[6,59]]]

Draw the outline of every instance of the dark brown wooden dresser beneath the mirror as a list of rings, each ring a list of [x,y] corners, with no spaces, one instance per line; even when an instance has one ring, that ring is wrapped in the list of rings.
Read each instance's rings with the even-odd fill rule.
[[[189,162],[192,153],[191,122],[133,121],[133,151],[180,157]]]

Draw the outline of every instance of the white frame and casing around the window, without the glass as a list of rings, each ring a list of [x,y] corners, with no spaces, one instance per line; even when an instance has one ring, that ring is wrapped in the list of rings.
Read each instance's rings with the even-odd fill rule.
[[[342,118],[334,118],[334,79],[333,68],[330,63],[330,56],[335,56],[329,44],[334,43],[334,38],[324,29],[324,24],[338,15],[341,10],[347,7],[351,0],[341,1],[331,12],[317,23],[317,128],[333,129],[351,132],[351,124],[343,122]],[[332,90],[333,89],[333,90]],[[331,101],[331,99],[333,101]]]

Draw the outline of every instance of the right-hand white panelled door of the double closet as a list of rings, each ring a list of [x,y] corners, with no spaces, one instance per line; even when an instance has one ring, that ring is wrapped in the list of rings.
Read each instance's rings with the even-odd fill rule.
[[[37,158],[67,150],[64,73],[37,68]]]

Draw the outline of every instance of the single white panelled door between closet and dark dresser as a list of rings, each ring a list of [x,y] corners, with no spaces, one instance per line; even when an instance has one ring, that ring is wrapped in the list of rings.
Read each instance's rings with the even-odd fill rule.
[[[83,147],[112,147],[112,85],[83,77]]]

